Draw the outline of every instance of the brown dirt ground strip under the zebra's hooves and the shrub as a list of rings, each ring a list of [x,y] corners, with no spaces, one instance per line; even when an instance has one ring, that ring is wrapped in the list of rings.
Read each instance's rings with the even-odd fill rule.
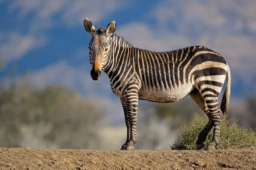
[[[1,170],[256,170],[256,148],[71,150],[0,148]]]

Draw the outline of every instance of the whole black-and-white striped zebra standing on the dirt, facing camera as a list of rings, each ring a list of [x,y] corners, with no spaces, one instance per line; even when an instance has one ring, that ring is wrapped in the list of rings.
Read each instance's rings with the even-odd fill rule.
[[[104,71],[110,79],[111,90],[122,103],[127,138],[121,150],[132,150],[137,142],[139,99],[169,103],[188,95],[208,116],[207,125],[198,135],[196,148],[205,147],[208,133],[214,127],[212,141],[205,150],[215,149],[219,143],[221,119],[228,111],[231,90],[230,68],[220,54],[199,45],[166,52],[135,48],[114,34],[115,21],[96,30],[85,18],[84,28],[90,34],[91,78],[99,80]],[[226,88],[219,105],[218,96],[226,77]]]

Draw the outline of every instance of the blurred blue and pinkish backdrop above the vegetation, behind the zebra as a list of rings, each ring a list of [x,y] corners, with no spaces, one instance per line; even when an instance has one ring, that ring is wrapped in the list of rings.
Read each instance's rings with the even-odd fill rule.
[[[118,100],[106,75],[90,78],[83,20],[95,27],[116,21],[116,33],[134,46],[171,51],[203,45],[220,53],[232,71],[232,99],[256,84],[255,0],[0,0],[0,55],[8,80],[29,71],[38,87],[66,85],[84,96]]]

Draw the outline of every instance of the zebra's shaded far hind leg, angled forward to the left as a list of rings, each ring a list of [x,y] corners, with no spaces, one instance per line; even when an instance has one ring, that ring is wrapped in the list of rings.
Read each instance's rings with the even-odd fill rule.
[[[212,120],[211,114],[209,113],[207,103],[205,102],[204,98],[201,96],[199,91],[197,89],[195,89],[189,95],[194,100],[194,102],[199,106],[199,108],[201,108],[201,110],[204,111],[204,113],[206,113],[206,115],[208,116],[208,119],[209,119],[207,125],[204,127],[204,129],[198,135],[198,140],[196,142],[196,149],[200,150],[204,147],[204,142],[209,134],[209,131],[213,127],[213,120]]]

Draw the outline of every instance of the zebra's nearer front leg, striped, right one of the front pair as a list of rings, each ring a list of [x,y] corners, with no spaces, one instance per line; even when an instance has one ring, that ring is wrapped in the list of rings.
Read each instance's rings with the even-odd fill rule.
[[[127,140],[122,145],[121,150],[132,150],[137,142],[136,123],[137,123],[137,108],[138,95],[134,93],[125,95],[126,113],[125,123],[127,127]]]

